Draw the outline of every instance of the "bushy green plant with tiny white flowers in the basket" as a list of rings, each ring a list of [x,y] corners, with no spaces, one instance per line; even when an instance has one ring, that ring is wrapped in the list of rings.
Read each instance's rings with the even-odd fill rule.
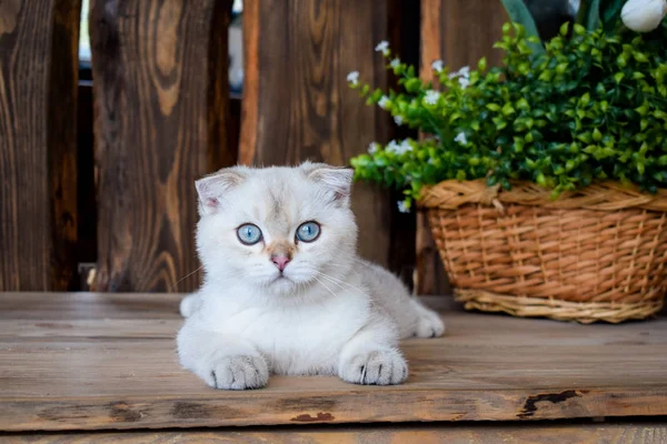
[[[358,73],[350,87],[425,138],[371,143],[351,161],[356,178],[404,190],[406,211],[424,185],[451,179],[486,178],[504,189],[534,181],[554,198],[597,180],[667,188],[667,26],[638,34],[621,29],[618,16],[615,31],[605,24],[566,23],[542,43],[506,23],[496,43],[500,67],[481,59],[450,73],[436,61],[438,88],[381,43],[401,91],[371,91]]]

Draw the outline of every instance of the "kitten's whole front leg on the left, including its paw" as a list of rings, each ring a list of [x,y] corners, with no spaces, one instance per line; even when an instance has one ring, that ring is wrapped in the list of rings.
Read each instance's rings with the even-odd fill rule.
[[[186,322],[178,333],[177,345],[181,365],[211,387],[246,390],[267,385],[266,360],[243,340],[200,330],[192,322]]]

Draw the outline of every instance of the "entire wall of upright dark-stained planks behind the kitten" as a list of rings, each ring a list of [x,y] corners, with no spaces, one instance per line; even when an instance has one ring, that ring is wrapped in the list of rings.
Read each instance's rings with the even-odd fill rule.
[[[241,101],[227,85],[231,0],[92,0],[82,79],[80,1],[0,1],[0,291],[193,290],[197,178],[237,161],[346,164],[417,137],[347,73],[395,85],[380,40],[416,65],[494,62],[505,21],[487,0],[245,3]],[[359,251],[441,293],[428,230],[398,198],[356,184]]]

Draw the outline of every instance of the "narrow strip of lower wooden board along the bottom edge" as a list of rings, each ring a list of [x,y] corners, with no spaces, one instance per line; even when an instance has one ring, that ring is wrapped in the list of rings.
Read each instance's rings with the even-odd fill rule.
[[[496,424],[496,425],[354,425],[340,427],[275,427],[215,431],[143,431],[100,433],[0,434],[4,444],[161,444],[161,443],[270,443],[270,444],[664,444],[667,425],[613,424]]]

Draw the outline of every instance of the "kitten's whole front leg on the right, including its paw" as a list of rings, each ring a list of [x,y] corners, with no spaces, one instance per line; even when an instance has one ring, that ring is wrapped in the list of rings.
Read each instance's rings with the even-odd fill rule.
[[[354,384],[400,384],[408,377],[408,364],[396,340],[396,333],[387,325],[365,326],[344,345],[338,375]]]

